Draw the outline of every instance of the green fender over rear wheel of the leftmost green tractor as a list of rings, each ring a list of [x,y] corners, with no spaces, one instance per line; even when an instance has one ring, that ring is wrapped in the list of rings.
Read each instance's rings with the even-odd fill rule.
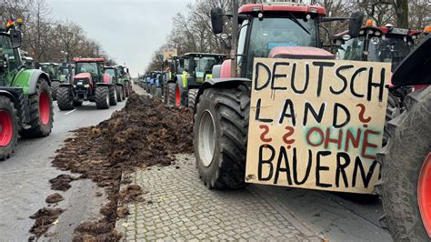
[[[36,92],[37,82],[40,78],[45,79],[51,86],[51,79],[45,72],[38,69],[20,71],[14,79],[13,86],[23,88],[25,95],[33,95]]]

